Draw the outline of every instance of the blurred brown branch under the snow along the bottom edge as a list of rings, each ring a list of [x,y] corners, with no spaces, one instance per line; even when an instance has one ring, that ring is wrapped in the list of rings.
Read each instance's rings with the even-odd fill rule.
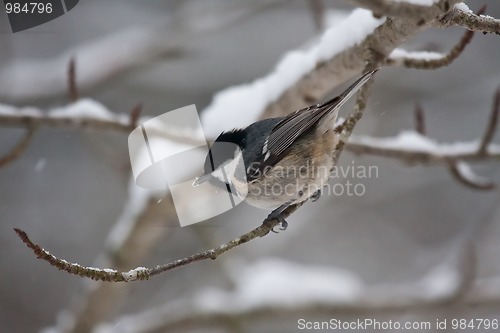
[[[382,292],[377,290],[377,287],[373,287],[372,290],[368,289],[360,293],[359,297],[352,302],[328,302],[324,297],[319,297],[317,300],[311,297],[309,302],[304,302],[302,298],[302,302],[297,302],[293,306],[271,303],[236,309],[222,306],[193,308],[192,305],[188,307],[178,303],[168,303],[144,313],[122,316],[105,324],[104,332],[122,332],[123,327],[133,327],[130,330],[131,333],[187,332],[196,329],[207,330],[207,327],[217,330],[222,324],[233,321],[262,323],[267,320],[283,320],[283,318],[286,320],[308,317],[339,318],[341,316],[352,317],[353,314],[358,318],[387,317],[408,313],[430,314],[431,317],[435,317],[436,313],[446,313],[450,307],[498,306],[500,304],[499,286],[498,277],[474,281],[466,294],[459,298],[451,294],[451,296],[428,299],[425,298],[425,294],[419,293],[420,285],[410,284],[405,286],[402,293],[395,292],[394,287]],[[238,304],[240,300],[232,295],[228,298],[231,304]],[[173,312],[180,314],[172,315]]]

